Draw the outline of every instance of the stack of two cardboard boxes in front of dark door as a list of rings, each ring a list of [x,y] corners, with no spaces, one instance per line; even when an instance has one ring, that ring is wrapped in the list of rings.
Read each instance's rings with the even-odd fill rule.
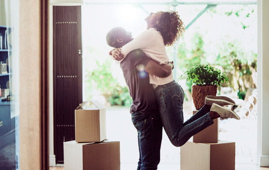
[[[120,142],[106,140],[106,109],[98,101],[75,109],[75,141],[64,142],[65,170],[120,170]]]

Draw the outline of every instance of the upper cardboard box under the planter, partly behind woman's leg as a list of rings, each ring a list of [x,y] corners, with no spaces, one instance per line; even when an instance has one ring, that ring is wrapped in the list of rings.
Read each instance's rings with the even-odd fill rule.
[[[197,111],[193,111],[195,114]],[[217,143],[219,140],[219,118],[213,120],[213,124],[193,135],[193,142],[196,143]]]

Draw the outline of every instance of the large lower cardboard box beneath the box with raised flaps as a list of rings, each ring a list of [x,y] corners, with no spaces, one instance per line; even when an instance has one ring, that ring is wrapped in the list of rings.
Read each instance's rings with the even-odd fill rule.
[[[120,170],[120,142],[64,142],[64,170]]]

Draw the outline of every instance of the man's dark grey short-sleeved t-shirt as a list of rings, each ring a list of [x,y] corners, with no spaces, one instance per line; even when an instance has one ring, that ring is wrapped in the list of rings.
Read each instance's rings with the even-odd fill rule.
[[[152,59],[141,50],[134,50],[121,62],[124,78],[133,99],[131,113],[156,114],[158,112],[153,87],[149,84],[148,73],[143,70],[150,60]]]

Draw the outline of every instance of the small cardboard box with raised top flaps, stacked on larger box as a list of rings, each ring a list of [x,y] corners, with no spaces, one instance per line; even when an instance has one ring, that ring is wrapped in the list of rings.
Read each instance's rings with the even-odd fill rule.
[[[98,101],[83,102],[75,110],[76,142],[101,142],[106,134],[106,109]]]

